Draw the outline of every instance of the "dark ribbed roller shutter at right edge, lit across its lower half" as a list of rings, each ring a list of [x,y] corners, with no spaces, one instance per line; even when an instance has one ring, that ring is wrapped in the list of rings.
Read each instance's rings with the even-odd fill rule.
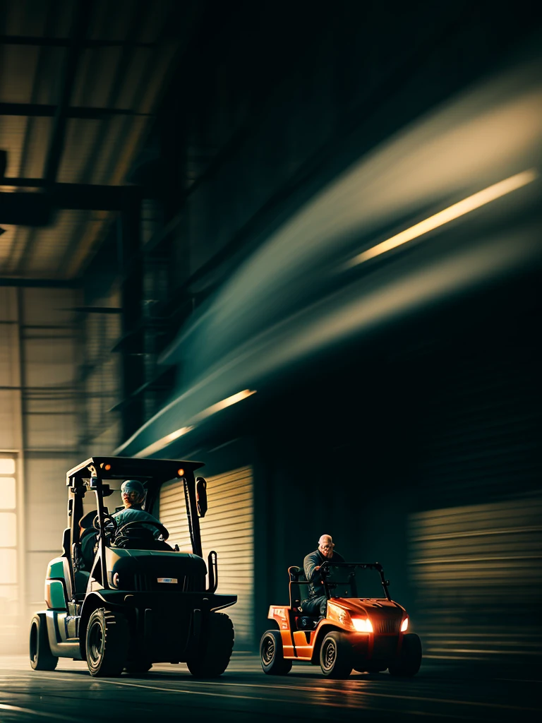
[[[542,640],[541,358],[520,333],[502,337],[410,369],[410,573],[429,657],[534,659]]]

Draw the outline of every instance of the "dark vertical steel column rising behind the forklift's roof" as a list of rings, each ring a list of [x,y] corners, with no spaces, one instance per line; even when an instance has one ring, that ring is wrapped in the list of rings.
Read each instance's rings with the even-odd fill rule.
[[[145,330],[143,328],[143,262],[141,256],[141,199],[134,194],[125,203],[119,221],[119,254],[122,273],[122,437],[129,439],[145,422],[142,394],[145,383]]]

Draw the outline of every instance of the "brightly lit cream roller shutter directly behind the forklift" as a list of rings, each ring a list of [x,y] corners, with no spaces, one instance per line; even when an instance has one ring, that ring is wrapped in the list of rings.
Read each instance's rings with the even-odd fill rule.
[[[238,602],[226,609],[236,631],[236,650],[250,649],[254,627],[254,515],[252,470],[233,469],[207,479],[209,510],[200,520],[203,555],[218,555],[219,593],[233,593]],[[168,482],[160,490],[160,521],[168,542],[190,549],[183,484]]]

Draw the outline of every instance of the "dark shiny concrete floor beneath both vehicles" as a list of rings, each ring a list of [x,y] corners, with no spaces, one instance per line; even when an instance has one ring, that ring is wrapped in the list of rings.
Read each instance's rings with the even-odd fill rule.
[[[510,674],[509,674],[510,675]],[[473,675],[423,664],[411,680],[387,673],[324,680],[319,667],[296,664],[265,676],[256,656],[234,654],[217,680],[195,680],[183,664],[147,675],[90,677],[87,665],[62,660],[37,672],[23,656],[0,657],[0,722],[22,721],[412,721],[541,719],[541,680]]]

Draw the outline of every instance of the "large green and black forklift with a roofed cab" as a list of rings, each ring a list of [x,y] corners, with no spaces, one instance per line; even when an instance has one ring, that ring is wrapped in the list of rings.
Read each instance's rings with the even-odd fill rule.
[[[30,665],[54,670],[59,658],[85,660],[90,675],[145,673],[153,663],[186,662],[196,677],[222,675],[233,650],[233,624],[220,610],[236,595],[217,594],[218,563],[202,557],[199,520],[207,512],[207,482],[191,461],[92,457],[66,473],[68,524],[62,554],[48,565],[47,609],[30,625]],[[111,483],[134,479],[146,491],[145,510],[157,508],[160,487],[184,485],[192,551],[171,547],[163,525],[116,524],[104,500]],[[85,495],[96,500],[90,570],[82,560],[79,521]],[[114,511],[114,510],[113,510]],[[152,529],[152,528],[155,529]]]

